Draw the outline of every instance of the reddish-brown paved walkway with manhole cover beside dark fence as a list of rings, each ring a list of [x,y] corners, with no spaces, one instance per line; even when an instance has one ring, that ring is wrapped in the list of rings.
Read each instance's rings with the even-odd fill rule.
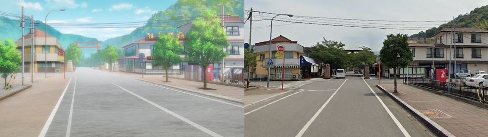
[[[393,91],[393,84],[382,84]],[[456,137],[488,137],[488,110],[405,84],[395,94]]]

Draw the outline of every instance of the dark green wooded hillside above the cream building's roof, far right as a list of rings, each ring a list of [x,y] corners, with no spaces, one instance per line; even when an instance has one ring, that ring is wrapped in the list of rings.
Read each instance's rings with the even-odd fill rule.
[[[456,22],[456,27],[470,27],[470,28],[487,28],[487,20],[488,20],[488,5],[484,5],[478,8],[475,8],[469,13],[459,15],[454,19]],[[436,34],[441,30],[443,27],[451,27],[452,20],[440,25],[439,27],[433,27],[428,29],[427,31],[421,31],[417,34],[410,35],[410,38],[429,38],[430,36]]]

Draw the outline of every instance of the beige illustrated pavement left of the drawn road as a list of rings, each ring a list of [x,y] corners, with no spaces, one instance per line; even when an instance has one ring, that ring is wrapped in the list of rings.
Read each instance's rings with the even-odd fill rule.
[[[35,78],[32,87],[0,100],[0,137],[37,137],[68,81],[62,76]]]

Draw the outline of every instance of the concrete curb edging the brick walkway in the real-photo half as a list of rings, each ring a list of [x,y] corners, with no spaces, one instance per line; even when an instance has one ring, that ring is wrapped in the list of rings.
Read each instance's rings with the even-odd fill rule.
[[[406,109],[410,114],[412,114],[415,118],[420,120],[422,124],[424,124],[430,131],[432,131],[437,137],[456,137],[452,135],[449,131],[444,129],[442,126],[431,120],[430,118],[426,117],[424,114],[420,113],[417,109],[413,108],[412,106],[408,105],[407,102],[403,101],[402,99],[398,98],[394,94],[388,92],[384,87],[380,85],[376,85],[381,91],[386,93],[388,97],[395,100],[400,106]]]

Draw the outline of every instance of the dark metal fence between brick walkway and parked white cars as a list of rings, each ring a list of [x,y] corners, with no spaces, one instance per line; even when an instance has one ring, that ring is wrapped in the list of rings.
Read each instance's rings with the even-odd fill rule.
[[[407,78],[404,78],[404,83]],[[408,83],[430,89],[441,90],[444,93],[468,98],[482,103],[488,103],[488,88],[468,86],[463,83],[444,82],[427,78],[408,78]]]

